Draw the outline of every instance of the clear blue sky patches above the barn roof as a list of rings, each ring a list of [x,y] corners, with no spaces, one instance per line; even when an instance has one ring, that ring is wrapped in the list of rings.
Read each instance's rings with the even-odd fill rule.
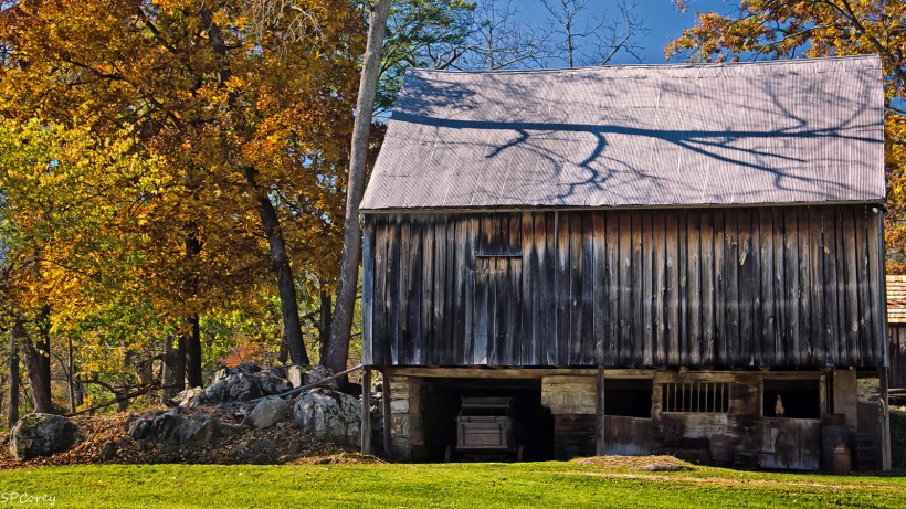
[[[551,3],[559,3],[559,0],[550,0]],[[546,11],[539,0],[514,0],[513,4],[520,13],[528,18],[540,19]],[[720,13],[733,12],[737,2],[726,0],[688,0],[688,11],[678,12],[671,0],[635,0],[635,13],[645,21],[645,25],[651,30],[644,40],[640,40],[640,45],[644,46],[641,52],[642,63],[663,64],[664,45],[673,41],[683,32],[686,26],[692,26],[696,11],[717,11]],[[614,0],[590,0],[588,11],[604,12],[613,11]],[[621,55],[615,64],[635,63],[626,55]]]

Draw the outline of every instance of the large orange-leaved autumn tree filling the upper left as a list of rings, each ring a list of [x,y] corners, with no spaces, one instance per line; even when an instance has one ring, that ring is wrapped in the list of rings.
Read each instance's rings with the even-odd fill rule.
[[[336,277],[337,256],[320,255],[341,231],[361,20],[344,1],[270,17],[263,6],[24,1],[0,19],[6,115],[107,136],[128,126],[135,150],[158,159],[130,211],[143,218],[136,271],[179,324],[192,385],[200,315],[253,284],[262,255],[296,363],[308,357],[293,261]]]

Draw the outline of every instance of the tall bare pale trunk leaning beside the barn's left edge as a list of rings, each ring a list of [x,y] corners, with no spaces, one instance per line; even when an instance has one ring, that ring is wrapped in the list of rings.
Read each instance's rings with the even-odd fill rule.
[[[352,312],[356,308],[356,288],[359,279],[361,258],[361,227],[359,226],[359,202],[365,191],[365,167],[368,161],[368,136],[371,130],[371,114],[380,75],[381,46],[387,30],[387,15],[391,0],[376,0],[371,4],[371,21],[368,26],[368,43],[359,81],[359,96],[356,102],[356,120],[352,127],[352,152],[349,159],[349,182],[346,191],[346,218],[344,219],[343,262],[337,289],[337,305],[330,328],[330,342],[320,363],[335,372],[346,369],[349,357],[349,336],[352,333]]]

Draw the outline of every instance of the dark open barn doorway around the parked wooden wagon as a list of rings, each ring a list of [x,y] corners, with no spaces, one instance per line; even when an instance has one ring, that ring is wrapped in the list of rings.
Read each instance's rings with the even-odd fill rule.
[[[456,417],[463,397],[509,397],[516,445],[525,445],[525,460],[554,458],[554,416],[541,406],[541,379],[425,378],[422,423],[425,459],[443,462],[446,447],[456,444]],[[515,455],[514,455],[515,458]],[[456,455],[470,460],[471,455]]]

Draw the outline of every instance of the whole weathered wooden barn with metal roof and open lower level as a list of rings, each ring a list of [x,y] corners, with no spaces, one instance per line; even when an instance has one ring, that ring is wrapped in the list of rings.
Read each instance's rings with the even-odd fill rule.
[[[376,445],[888,467],[883,124],[876,56],[410,70],[361,203]]]

